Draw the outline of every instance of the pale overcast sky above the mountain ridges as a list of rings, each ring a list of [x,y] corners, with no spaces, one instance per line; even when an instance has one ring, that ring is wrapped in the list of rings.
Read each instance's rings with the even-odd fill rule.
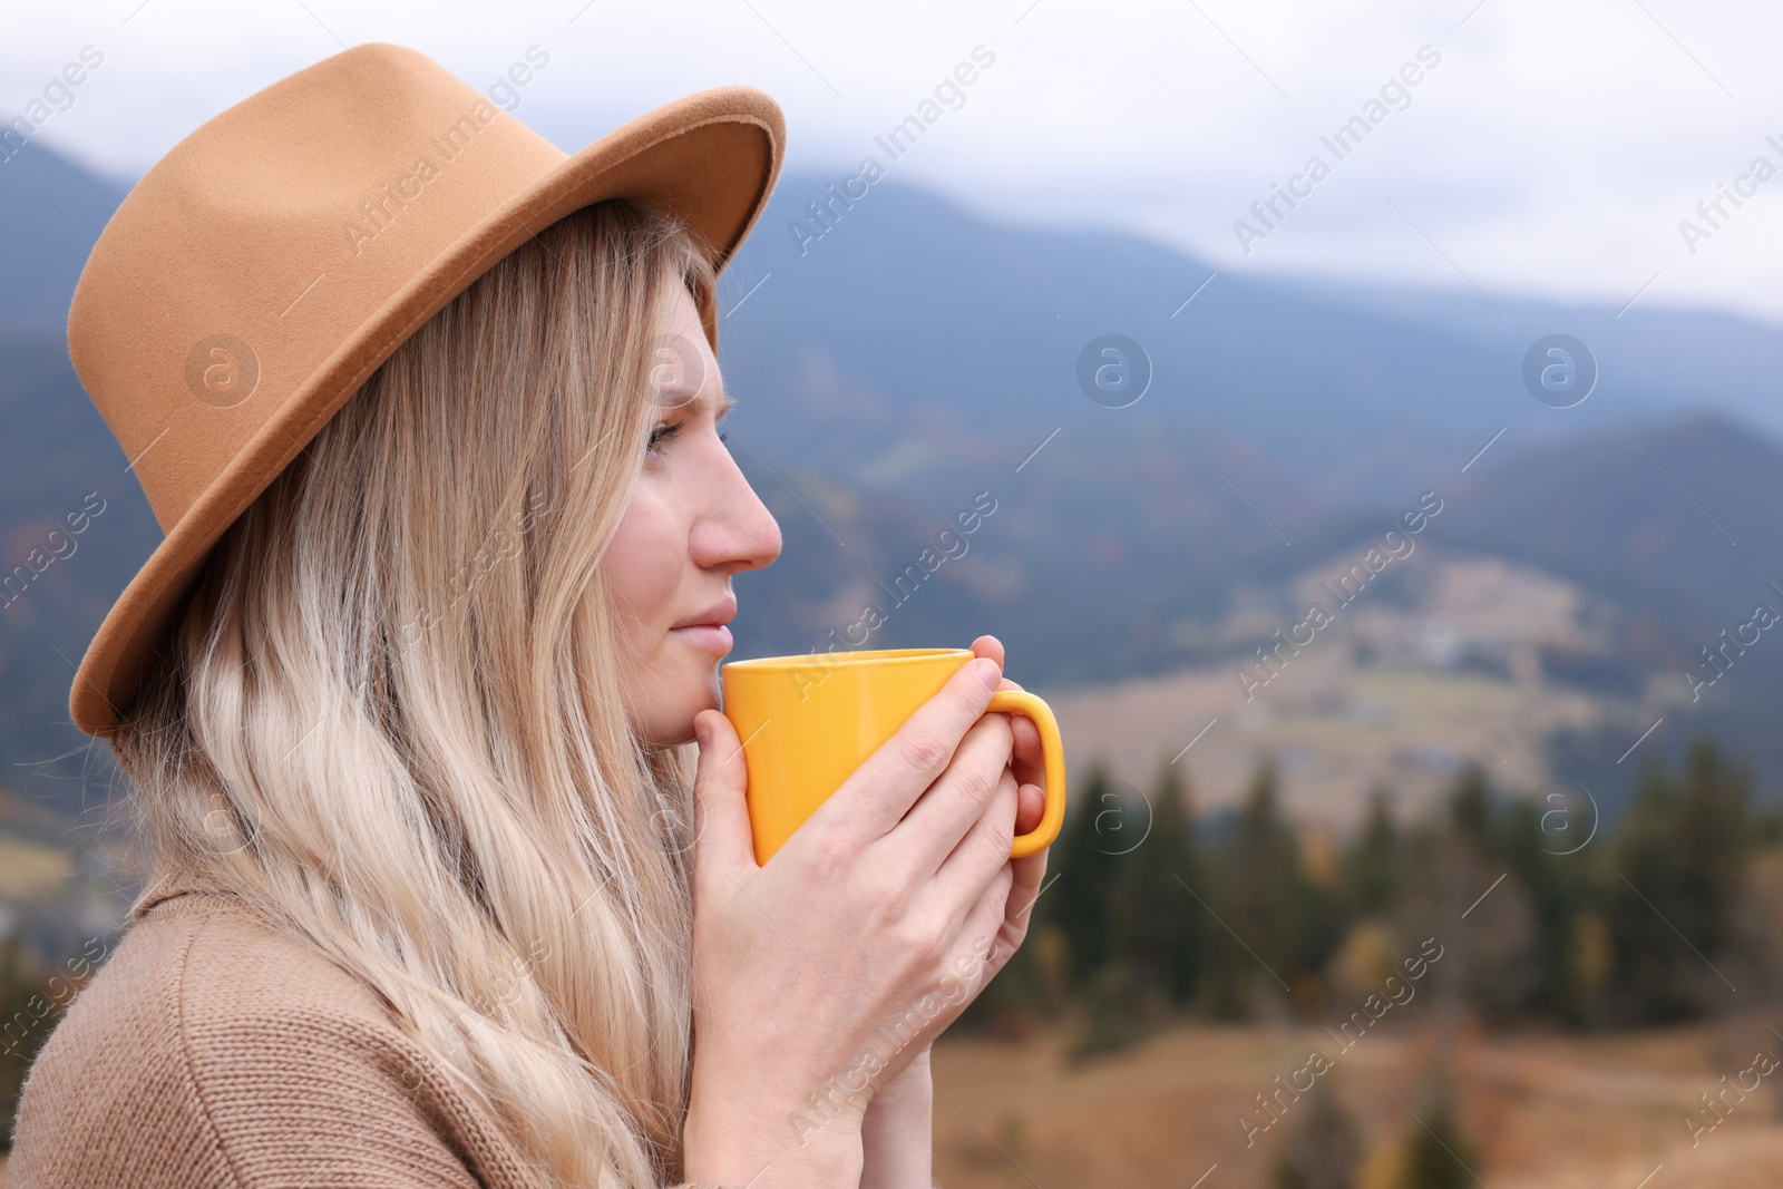
[[[415,46],[478,87],[537,46],[549,62],[515,114],[565,150],[690,91],[752,84],[786,109],[788,168],[838,180],[867,153],[888,164],[874,137],[984,46],[993,64],[888,176],[1018,221],[1127,228],[1234,275],[1639,294],[1783,321],[1783,176],[1753,173],[1760,157],[1783,169],[1776,4],[14,2],[0,119],[93,46],[103,62],[37,135],[134,178],[230,103],[360,41]],[[1401,71],[1417,84],[1380,102]],[[1375,123],[1339,157],[1321,137],[1352,116]],[[1316,182],[1312,157],[1328,169]],[[1250,209],[1275,185],[1302,198],[1262,223]],[[1738,207],[1697,214],[1735,185]]]

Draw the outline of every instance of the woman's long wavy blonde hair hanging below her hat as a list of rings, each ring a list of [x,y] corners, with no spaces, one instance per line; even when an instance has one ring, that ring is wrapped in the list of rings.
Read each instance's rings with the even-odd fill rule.
[[[599,560],[653,426],[665,212],[546,228],[218,544],[119,765],[157,866],[369,984],[558,1185],[678,1180],[690,749],[635,738]]]

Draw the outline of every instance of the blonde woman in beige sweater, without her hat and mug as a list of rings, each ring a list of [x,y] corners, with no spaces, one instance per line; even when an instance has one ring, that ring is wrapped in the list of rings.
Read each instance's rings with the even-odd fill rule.
[[[14,1189],[929,1185],[927,1046],[1039,888],[1038,738],[984,713],[981,636],[756,866],[690,626],[781,544],[717,424],[720,262],[574,209],[221,533],[109,733],[157,879],[30,1071]]]

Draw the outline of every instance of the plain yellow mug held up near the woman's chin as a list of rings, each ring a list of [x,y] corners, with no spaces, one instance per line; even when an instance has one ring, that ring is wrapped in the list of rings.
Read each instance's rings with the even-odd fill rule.
[[[767,863],[972,658],[970,649],[870,649],[720,665],[724,717],[744,742],[756,863]],[[1064,743],[1052,708],[1027,690],[997,690],[991,711],[1032,718],[1045,752],[1047,811],[1009,847],[1018,859],[1059,836]]]

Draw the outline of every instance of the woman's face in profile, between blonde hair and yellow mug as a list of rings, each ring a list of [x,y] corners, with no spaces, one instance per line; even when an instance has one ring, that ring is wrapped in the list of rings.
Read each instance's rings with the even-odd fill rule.
[[[774,562],[781,535],[719,439],[719,360],[685,285],[658,342],[653,449],[601,570],[619,606],[631,729],[674,745],[694,738],[694,715],[719,708],[731,635],[710,624],[736,613],[731,574]]]

